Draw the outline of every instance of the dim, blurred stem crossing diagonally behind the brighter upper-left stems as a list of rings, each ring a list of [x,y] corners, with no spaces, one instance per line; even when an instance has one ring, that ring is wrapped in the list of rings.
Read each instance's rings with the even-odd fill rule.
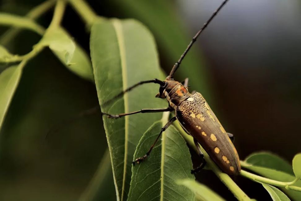
[[[34,7],[31,11],[29,11],[26,15],[31,20],[37,19],[43,13],[48,11],[55,4],[55,0],[48,0],[40,5]],[[6,46],[18,33],[20,33],[22,29],[20,28],[10,28],[5,33],[2,34],[0,38],[0,44]]]

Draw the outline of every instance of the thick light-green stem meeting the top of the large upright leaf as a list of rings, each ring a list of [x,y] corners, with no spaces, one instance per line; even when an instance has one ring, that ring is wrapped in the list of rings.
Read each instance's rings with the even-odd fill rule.
[[[89,28],[91,28],[94,20],[97,18],[97,14],[94,10],[83,0],[69,0],[72,7],[86,22]]]

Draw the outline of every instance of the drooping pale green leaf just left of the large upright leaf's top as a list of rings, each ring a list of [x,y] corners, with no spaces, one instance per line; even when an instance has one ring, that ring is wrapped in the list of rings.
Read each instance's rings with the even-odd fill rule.
[[[94,80],[92,65],[88,55],[63,28],[47,30],[37,45],[49,46],[69,70],[82,78]]]

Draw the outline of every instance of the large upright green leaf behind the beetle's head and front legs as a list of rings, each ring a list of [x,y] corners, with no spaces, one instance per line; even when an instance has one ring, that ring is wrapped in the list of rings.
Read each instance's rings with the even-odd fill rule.
[[[96,21],[91,29],[90,51],[100,105],[141,80],[160,76],[154,38],[135,20]],[[167,107],[165,101],[154,97],[158,88],[144,84],[103,106],[102,112],[119,114]],[[118,199],[126,200],[129,193],[132,160],[139,139],[161,117],[161,113],[120,119],[103,117]]]

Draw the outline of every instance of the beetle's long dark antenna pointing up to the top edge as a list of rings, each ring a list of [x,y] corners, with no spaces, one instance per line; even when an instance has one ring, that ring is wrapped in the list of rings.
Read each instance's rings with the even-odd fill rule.
[[[204,29],[206,29],[206,27],[208,26],[208,24],[212,21],[212,19],[216,16],[216,14],[220,11],[220,9],[227,3],[227,1],[229,0],[224,0],[222,2],[222,4],[220,4],[220,7],[217,8],[216,11],[214,11],[214,13],[212,14],[212,16],[209,18],[209,20],[207,20],[207,22],[203,25],[203,27],[198,31],[198,33],[195,34],[195,36],[192,38],[191,42],[189,43],[189,45],[187,46],[186,50],[183,52],[183,54],[181,55],[180,59],[175,63],[175,65],[172,67],[172,70],[169,73],[169,78],[173,78],[173,74],[176,72],[176,70],[180,67],[180,64],[182,62],[182,60],[184,59],[185,55],[187,54],[187,52],[190,50],[191,46],[193,45],[193,43],[196,41],[196,39],[198,38],[198,36],[200,35],[200,33],[202,33],[202,31]]]

